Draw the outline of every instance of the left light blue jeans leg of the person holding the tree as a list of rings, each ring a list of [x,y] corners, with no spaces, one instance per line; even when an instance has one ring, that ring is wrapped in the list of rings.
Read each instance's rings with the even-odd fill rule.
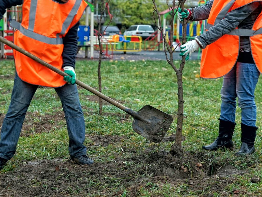
[[[221,88],[221,113],[220,119],[235,123],[236,118],[236,70],[235,65],[232,70],[223,77],[223,84]]]

